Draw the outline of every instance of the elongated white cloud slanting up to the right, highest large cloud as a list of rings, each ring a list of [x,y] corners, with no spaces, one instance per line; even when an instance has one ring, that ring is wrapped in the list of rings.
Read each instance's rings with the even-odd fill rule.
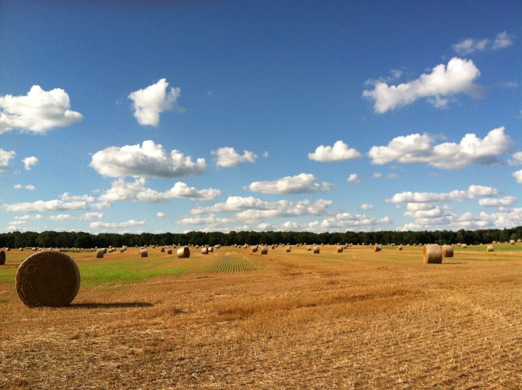
[[[450,59],[448,65],[436,65],[429,74],[399,85],[388,85],[379,81],[374,89],[363,91],[363,96],[374,101],[378,114],[411,104],[420,98],[429,98],[435,106],[445,106],[445,97],[457,93],[472,94],[476,86],[473,81],[480,71],[471,60]]]

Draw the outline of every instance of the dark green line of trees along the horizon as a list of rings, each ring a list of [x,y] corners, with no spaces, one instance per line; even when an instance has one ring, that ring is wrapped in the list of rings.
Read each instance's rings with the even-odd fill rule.
[[[485,229],[478,231],[376,231],[345,233],[310,233],[310,232],[255,232],[231,231],[189,233],[140,233],[118,234],[85,232],[10,232],[0,234],[0,247],[58,247],[58,248],[93,248],[93,247],[134,247],[136,245],[233,245],[233,244],[485,244],[492,241],[505,242],[522,238],[522,226],[510,229]]]

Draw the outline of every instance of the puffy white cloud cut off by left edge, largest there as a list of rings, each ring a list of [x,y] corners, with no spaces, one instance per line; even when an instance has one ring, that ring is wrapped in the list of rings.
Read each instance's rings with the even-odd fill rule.
[[[44,91],[35,85],[25,96],[0,96],[0,134],[13,129],[45,133],[83,118],[70,110],[69,95],[60,88]]]

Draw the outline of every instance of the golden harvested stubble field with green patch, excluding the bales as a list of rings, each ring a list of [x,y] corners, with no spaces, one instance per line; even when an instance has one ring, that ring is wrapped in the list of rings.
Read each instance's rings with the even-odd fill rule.
[[[67,252],[71,306],[0,267],[1,389],[520,389],[522,245]]]

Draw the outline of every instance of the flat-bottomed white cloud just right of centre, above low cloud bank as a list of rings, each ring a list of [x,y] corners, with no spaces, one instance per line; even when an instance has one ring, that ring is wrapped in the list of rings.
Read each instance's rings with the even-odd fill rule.
[[[310,194],[331,189],[327,182],[318,183],[312,173],[301,173],[296,176],[285,176],[274,181],[251,182],[247,189],[264,194]]]

